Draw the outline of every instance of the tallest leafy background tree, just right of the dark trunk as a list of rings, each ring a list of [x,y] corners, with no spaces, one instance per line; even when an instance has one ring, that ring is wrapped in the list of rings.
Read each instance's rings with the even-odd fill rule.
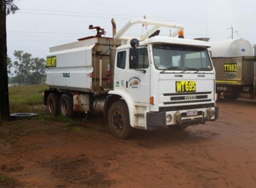
[[[14,56],[16,61],[13,63],[13,67],[16,69],[15,74],[21,76],[23,86],[26,84],[26,79],[31,71],[32,55],[30,53],[23,53],[21,50],[14,50]]]

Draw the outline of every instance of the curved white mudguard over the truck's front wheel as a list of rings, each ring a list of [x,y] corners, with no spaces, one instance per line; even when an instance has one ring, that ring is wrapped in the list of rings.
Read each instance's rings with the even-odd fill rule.
[[[138,126],[138,120],[137,120],[137,117],[135,116],[135,114],[137,114],[137,109],[136,109],[135,105],[133,104],[133,101],[132,101],[130,95],[123,91],[114,91],[114,90],[109,91],[108,94],[118,95],[125,100],[125,102],[128,106],[128,110],[129,110],[130,125],[132,127]]]

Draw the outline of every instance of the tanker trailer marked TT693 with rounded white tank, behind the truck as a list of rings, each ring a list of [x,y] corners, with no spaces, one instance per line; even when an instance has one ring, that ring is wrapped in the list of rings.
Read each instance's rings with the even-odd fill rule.
[[[254,51],[246,39],[212,42],[216,92],[226,99],[253,98]]]

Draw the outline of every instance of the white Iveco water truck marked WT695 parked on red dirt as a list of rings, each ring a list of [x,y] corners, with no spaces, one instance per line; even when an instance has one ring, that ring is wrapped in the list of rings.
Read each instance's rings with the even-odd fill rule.
[[[136,24],[147,28],[137,39],[126,34]],[[117,33],[114,19],[112,25],[113,38],[90,25],[96,36],[50,48],[44,91],[50,113],[103,113],[120,139],[133,128],[184,129],[218,118],[208,42],[185,39],[182,26],[161,21],[131,20]],[[157,36],[162,28],[174,32]]]

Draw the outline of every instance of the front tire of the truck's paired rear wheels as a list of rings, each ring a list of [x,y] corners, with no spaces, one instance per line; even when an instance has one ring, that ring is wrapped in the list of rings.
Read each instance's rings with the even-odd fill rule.
[[[59,111],[66,117],[74,117],[75,112],[73,111],[73,97],[68,93],[63,93],[59,101]]]

